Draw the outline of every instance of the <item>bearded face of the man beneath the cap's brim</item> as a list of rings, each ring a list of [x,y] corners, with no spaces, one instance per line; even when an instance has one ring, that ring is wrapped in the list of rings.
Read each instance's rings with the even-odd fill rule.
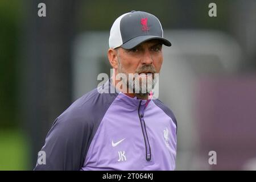
[[[138,73],[139,82],[135,80],[128,80],[127,86],[135,88],[137,85],[139,87],[140,94],[147,95],[151,90],[147,89],[146,93],[141,93],[142,87],[146,87],[146,83],[142,82],[142,77],[146,76],[146,79],[152,78],[153,80],[147,80],[147,86],[149,88],[154,88],[154,73],[159,73],[163,63],[162,54],[162,43],[159,40],[148,40],[137,47],[132,49],[124,49],[122,47],[118,48],[118,69],[117,73],[125,73],[128,78],[129,73]],[[142,74],[144,73],[144,74]],[[147,74],[151,73],[152,77]],[[142,75],[141,75],[142,74]],[[149,85],[149,83],[152,85]],[[147,87],[148,88],[148,87]],[[135,91],[135,90],[133,90]]]

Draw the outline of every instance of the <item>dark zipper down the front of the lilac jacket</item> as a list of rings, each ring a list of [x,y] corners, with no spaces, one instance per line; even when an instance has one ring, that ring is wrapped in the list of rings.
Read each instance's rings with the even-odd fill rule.
[[[146,110],[147,103],[145,104],[142,114],[140,114],[139,109],[141,107],[141,102],[142,101],[139,102],[138,115],[139,115],[139,121],[141,122],[141,129],[142,129],[142,134],[143,134],[144,143],[145,143],[145,147],[146,147],[146,160],[150,161],[151,160],[151,148],[150,148],[150,143],[149,143],[148,137],[147,137],[146,124],[144,121],[144,111]]]

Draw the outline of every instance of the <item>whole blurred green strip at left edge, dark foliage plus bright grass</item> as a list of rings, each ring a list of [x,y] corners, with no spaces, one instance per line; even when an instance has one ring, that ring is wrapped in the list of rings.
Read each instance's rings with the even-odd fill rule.
[[[27,135],[18,112],[22,1],[0,2],[0,170],[28,169]]]

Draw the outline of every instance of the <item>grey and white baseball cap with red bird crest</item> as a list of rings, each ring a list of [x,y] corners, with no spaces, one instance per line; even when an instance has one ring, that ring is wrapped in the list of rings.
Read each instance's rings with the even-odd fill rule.
[[[156,16],[144,11],[131,11],[119,16],[110,29],[109,47],[131,49],[147,40],[158,39],[166,46],[162,25]]]

